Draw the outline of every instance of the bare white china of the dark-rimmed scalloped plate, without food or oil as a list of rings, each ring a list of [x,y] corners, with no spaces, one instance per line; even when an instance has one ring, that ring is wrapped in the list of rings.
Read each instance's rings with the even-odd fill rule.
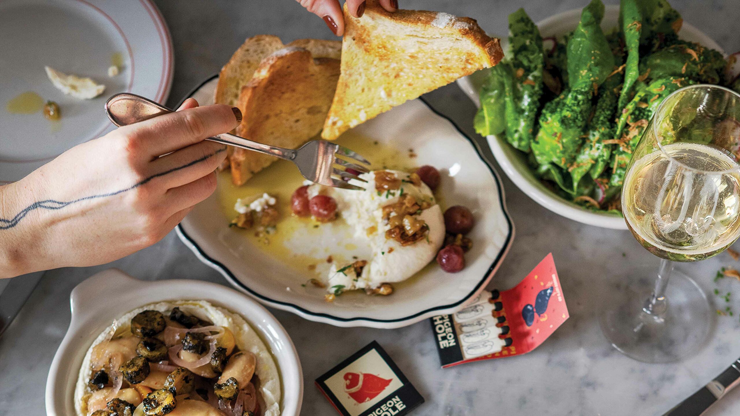
[[[206,81],[192,96],[201,104],[211,102],[215,83],[216,78]],[[304,287],[314,272],[286,265],[226,226],[229,219],[221,211],[218,190],[185,217],[178,225],[178,235],[201,261],[239,290],[312,321],[340,327],[396,328],[456,312],[485,289],[514,237],[497,174],[472,140],[422,100],[408,101],[354,130],[398,151],[412,148],[420,166],[440,169],[440,194],[445,202],[465,205],[477,221],[468,234],[474,244],[465,253],[464,270],[450,274],[429,267],[423,276],[403,282],[391,296],[347,293],[327,302],[325,290],[310,284]],[[219,180],[228,181],[223,176]],[[300,244],[313,242],[306,239]]]

